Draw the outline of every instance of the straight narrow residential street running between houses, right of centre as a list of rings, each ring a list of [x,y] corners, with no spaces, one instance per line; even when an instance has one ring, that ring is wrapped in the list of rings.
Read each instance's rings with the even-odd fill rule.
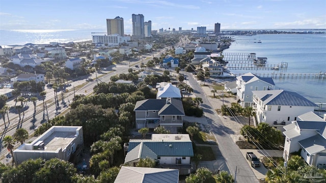
[[[229,168],[229,172],[231,172],[234,177],[235,169],[237,167],[237,182],[258,183],[259,181],[251,170],[249,164],[247,163],[247,160],[243,158],[238,146],[233,142],[232,138],[230,137],[230,134],[233,134],[234,132],[232,131],[232,129],[229,129],[224,126],[219,115],[214,111],[212,105],[208,101],[208,98],[205,95],[204,91],[193,77],[193,74],[187,73],[187,75],[190,76],[187,78],[194,89],[196,97],[200,97],[203,99],[203,104],[201,105],[201,107],[203,108],[208,124],[210,125],[210,128],[216,140],[218,141],[221,154],[224,157],[224,160]]]

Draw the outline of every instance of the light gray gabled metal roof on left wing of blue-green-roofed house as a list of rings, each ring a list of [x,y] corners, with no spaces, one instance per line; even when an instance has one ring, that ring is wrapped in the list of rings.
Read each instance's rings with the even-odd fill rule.
[[[157,155],[148,148],[143,142],[131,149],[124,159],[124,163],[128,163],[138,159],[150,158],[157,160]]]

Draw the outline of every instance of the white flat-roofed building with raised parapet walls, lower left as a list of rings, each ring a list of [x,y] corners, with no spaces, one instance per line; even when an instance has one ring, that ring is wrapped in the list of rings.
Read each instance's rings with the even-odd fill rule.
[[[37,158],[58,158],[76,163],[83,146],[83,127],[52,126],[33,142],[20,145],[13,154],[18,165],[25,160]]]

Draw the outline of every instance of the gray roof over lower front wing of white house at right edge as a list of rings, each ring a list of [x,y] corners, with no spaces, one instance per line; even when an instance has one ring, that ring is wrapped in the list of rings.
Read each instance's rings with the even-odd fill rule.
[[[298,141],[298,143],[303,146],[310,155],[326,150],[326,139],[319,134]]]

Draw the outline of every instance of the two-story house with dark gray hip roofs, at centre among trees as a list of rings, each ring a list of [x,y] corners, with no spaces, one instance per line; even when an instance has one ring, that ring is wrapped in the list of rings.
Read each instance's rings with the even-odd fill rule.
[[[161,126],[172,133],[183,126],[184,109],[179,99],[146,99],[134,106],[135,127],[154,129]]]

